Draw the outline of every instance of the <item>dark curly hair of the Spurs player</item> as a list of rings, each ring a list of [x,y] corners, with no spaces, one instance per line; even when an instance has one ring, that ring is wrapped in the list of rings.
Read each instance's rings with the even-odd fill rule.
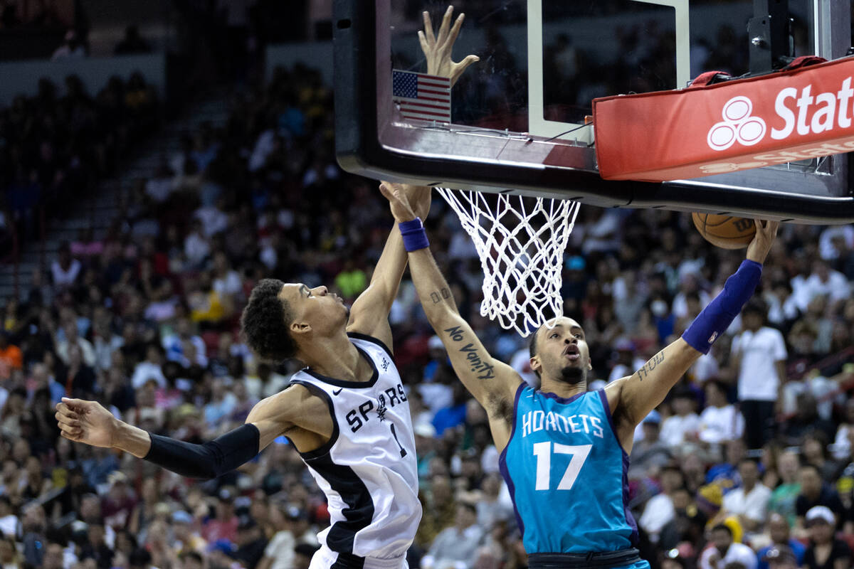
[[[262,359],[275,363],[296,353],[289,332],[294,316],[288,302],[278,298],[283,286],[284,282],[278,279],[262,279],[252,289],[249,304],[240,317],[249,347]]]

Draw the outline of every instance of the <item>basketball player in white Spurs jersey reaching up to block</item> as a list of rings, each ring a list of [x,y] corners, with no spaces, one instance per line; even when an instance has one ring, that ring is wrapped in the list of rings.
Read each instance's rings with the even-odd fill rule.
[[[445,13],[438,36],[428,28],[419,39],[428,73],[453,84],[477,57],[451,60],[463,21],[460,15],[451,26],[452,13]],[[426,216],[430,188],[401,191]],[[371,285],[349,311],[326,287],[259,282],[242,318],[250,347],[267,360],[295,357],[307,367],[283,392],[256,404],[245,425],[213,441],[189,444],[147,433],[96,402],[67,398],[56,406],[61,434],[200,479],[249,462],[285,436],[329,502],[330,527],[318,536],[311,569],[406,567],[421,505],[409,404],[389,350],[389,310],[406,265],[401,233],[392,229]]]

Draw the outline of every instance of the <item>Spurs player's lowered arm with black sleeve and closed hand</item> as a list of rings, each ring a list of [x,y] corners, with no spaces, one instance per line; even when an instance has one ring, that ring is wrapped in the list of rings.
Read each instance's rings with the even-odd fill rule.
[[[56,405],[61,435],[77,443],[127,453],[190,478],[214,479],[249,462],[294,427],[311,427],[325,412],[306,389],[294,386],[266,398],[249,412],[246,424],[204,444],[155,435],[116,419],[95,401],[62,398]],[[322,403],[322,402],[321,402]]]

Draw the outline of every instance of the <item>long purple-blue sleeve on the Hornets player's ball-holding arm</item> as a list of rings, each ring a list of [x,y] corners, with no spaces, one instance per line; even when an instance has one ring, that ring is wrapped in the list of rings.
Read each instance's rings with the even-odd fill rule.
[[[761,264],[750,260],[742,261],[739,270],[723,285],[721,293],[694,318],[691,326],[682,334],[682,340],[696,351],[709,353],[711,345],[729,328],[735,316],[738,316],[742,307],[753,296],[761,277]]]

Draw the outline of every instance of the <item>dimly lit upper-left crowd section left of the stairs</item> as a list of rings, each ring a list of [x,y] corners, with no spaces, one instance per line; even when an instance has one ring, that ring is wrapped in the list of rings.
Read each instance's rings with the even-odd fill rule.
[[[35,96],[0,105],[0,260],[38,235],[40,217],[67,212],[149,135],[161,112],[155,91],[133,73],[92,96],[76,75],[58,87],[43,78]],[[73,196],[73,198],[72,198]]]

